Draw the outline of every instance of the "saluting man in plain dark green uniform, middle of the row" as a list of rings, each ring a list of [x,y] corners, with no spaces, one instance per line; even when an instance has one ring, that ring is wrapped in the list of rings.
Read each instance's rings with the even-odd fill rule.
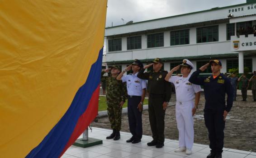
[[[165,80],[167,71],[161,70],[163,66],[162,60],[156,58],[152,62],[152,64],[144,66],[137,77],[148,80],[148,114],[153,140],[147,145],[156,145],[156,148],[162,148],[165,141],[165,112],[171,98],[171,83]],[[153,71],[144,73],[145,69],[152,65]]]

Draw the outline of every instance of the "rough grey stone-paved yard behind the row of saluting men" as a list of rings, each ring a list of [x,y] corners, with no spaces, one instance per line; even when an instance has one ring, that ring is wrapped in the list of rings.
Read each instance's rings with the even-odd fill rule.
[[[248,96],[247,102],[241,102],[241,96],[237,97],[231,112],[228,115],[225,127],[224,147],[256,152],[256,102],[252,102]],[[171,104],[175,102],[175,94],[172,95]],[[201,95],[199,109],[194,117],[194,142],[198,144],[209,144],[207,129],[204,125],[203,108],[204,95]],[[122,130],[129,132],[128,116],[122,117]],[[143,135],[151,136],[151,129],[148,120],[148,112],[143,111]],[[178,140],[178,130],[175,121],[175,106],[168,107],[166,110],[165,135],[168,139]],[[98,119],[93,122],[93,126],[100,128],[110,128],[108,117]]]

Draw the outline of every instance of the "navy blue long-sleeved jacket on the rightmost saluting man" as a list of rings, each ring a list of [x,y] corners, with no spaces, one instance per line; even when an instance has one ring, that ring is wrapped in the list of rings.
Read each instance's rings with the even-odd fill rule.
[[[233,104],[233,88],[230,80],[223,74],[213,79],[213,75],[209,77],[201,77],[201,70],[195,71],[190,76],[190,83],[204,86],[205,109],[226,110],[229,112]],[[226,93],[228,94],[227,106],[225,102]]]

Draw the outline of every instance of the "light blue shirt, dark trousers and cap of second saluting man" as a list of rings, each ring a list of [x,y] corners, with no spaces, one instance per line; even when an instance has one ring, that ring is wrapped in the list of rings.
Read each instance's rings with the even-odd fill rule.
[[[139,65],[143,68],[142,63],[139,60],[133,62],[134,65]],[[127,84],[128,93],[128,121],[130,132],[133,137],[130,142],[139,142],[142,138],[142,112],[139,112],[137,106],[141,102],[142,90],[146,89],[147,81],[145,79],[139,79],[137,74],[128,74],[122,77],[122,81]]]

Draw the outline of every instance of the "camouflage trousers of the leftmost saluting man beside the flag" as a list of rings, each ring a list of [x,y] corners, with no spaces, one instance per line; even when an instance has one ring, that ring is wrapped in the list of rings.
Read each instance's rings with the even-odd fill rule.
[[[121,130],[122,107],[119,103],[108,103],[108,116],[111,128]]]

